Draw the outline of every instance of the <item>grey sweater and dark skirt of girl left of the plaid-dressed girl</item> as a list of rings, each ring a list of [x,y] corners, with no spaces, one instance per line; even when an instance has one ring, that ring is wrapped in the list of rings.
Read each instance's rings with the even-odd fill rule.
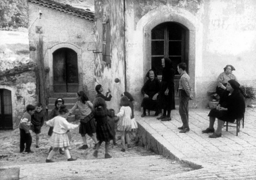
[[[85,104],[81,101],[76,102],[76,104],[69,111],[70,114],[75,113],[76,109],[79,109],[80,119],[84,119],[85,116],[91,113],[93,108],[93,104],[90,101],[87,101]],[[79,134],[93,134],[96,132],[96,123],[95,119],[91,121],[80,124],[79,126]]]

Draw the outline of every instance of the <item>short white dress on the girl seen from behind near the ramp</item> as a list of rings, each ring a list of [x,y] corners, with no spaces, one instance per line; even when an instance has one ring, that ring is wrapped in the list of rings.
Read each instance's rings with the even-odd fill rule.
[[[117,130],[131,131],[131,107],[122,106],[116,116],[119,117],[119,121],[117,123]]]

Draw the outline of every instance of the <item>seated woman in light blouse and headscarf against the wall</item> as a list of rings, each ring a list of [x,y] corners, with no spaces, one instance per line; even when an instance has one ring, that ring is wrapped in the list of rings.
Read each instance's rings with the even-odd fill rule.
[[[224,72],[218,76],[216,93],[222,96],[226,90],[227,81],[234,79],[237,81],[236,76],[232,74],[232,71],[236,70],[232,65],[227,65],[224,67]]]

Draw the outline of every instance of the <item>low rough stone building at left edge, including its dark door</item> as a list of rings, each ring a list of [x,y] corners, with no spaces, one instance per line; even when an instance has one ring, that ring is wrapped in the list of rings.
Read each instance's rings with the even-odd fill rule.
[[[26,105],[37,102],[35,64],[0,72],[0,130],[17,128]]]

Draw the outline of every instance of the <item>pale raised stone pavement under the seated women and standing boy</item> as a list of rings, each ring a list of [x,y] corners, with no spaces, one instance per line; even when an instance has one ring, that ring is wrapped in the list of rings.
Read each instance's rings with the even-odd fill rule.
[[[255,180],[256,109],[246,109],[244,128],[240,128],[238,136],[236,128],[229,128],[229,131],[223,128],[222,136],[216,139],[201,133],[209,126],[208,113],[208,109],[189,110],[190,131],[186,134],[180,134],[177,129],[182,125],[178,110],[172,111],[172,121],[169,122],[161,122],[153,116],[137,118],[145,131],[159,142],[157,151],[160,154],[164,154],[163,149],[167,149],[181,161],[201,165],[201,169],[170,174],[162,179]]]

